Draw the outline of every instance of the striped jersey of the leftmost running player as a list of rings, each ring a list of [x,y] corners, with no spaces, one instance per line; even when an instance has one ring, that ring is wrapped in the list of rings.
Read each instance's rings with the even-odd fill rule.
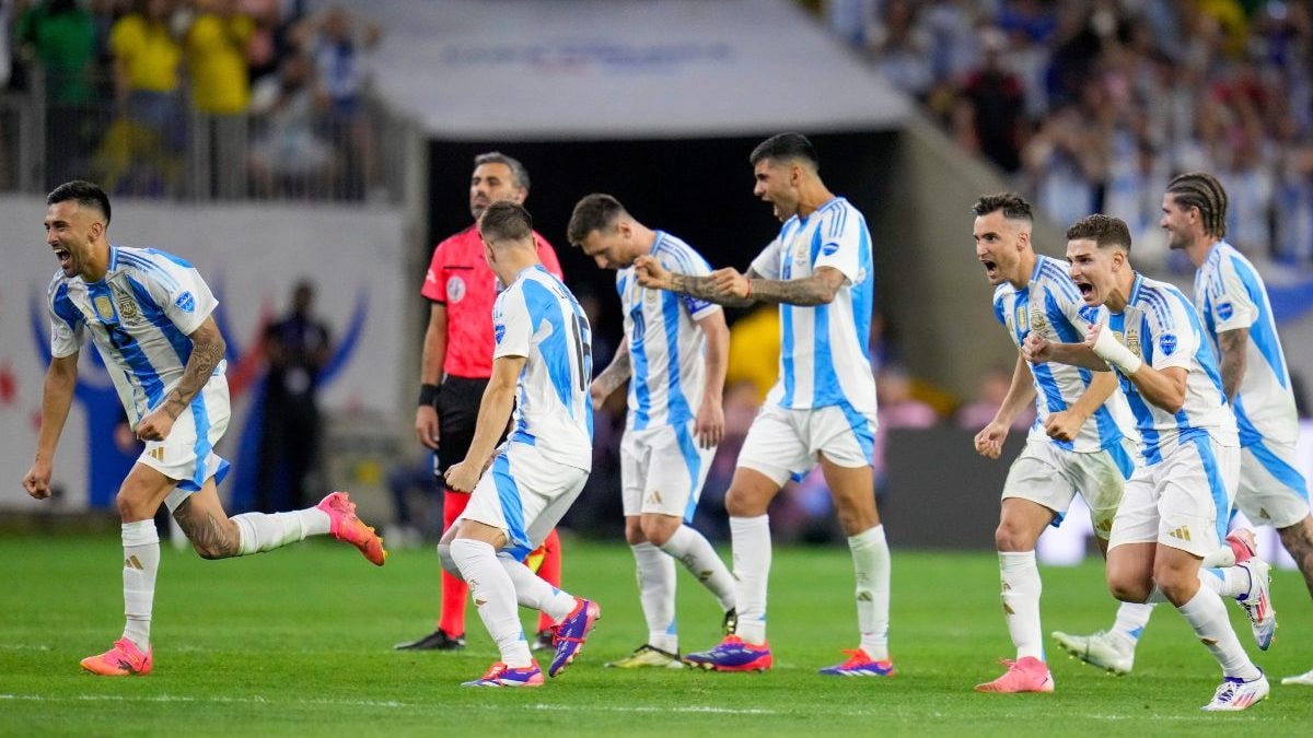
[[[177,386],[192,357],[188,336],[218,303],[200,272],[177,256],[110,246],[100,281],[62,271],[50,281],[50,353],[72,356],[89,336],[135,425]],[[214,374],[225,369],[221,361]]]

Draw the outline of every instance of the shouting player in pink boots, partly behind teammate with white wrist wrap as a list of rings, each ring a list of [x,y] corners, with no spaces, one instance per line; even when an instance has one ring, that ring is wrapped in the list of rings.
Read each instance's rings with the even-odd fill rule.
[[[982,197],[973,207],[976,257],[994,285],[994,314],[1018,351],[1028,334],[1074,343],[1090,328],[1085,301],[1066,265],[1031,246],[1031,204],[1014,193]],[[1062,521],[1071,498],[1090,508],[1099,550],[1107,553],[1112,516],[1134,469],[1134,419],[1109,372],[1066,364],[1032,370],[1018,353],[1012,385],[994,419],[976,435],[976,450],[998,458],[1016,415],[1035,402],[1025,450],[1012,462],[994,542],[998,546],[1003,612],[1016,646],[1007,672],[977,692],[1052,692],[1040,630],[1040,570],[1035,544]],[[1133,605],[1144,607],[1144,605]]]

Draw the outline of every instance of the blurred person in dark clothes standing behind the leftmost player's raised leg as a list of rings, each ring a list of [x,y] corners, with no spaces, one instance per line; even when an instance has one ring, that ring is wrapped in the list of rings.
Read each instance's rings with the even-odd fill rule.
[[[301,281],[291,311],[264,332],[268,373],[264,383],[264,435],[256,510],[277,512],[309,504],[306,482],[319,454],[319,373],[332,356],[328,326],[314,314],[315,288]],[[286,485],[278,485],[278,481]],[[274,496],[288,490],[286,499]]]

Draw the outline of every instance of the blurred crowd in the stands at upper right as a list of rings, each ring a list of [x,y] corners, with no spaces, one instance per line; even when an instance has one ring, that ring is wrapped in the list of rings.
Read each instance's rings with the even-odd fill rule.
[[[1191,272],[1162,184],[1217,172],[1228,236],[1313,265],[1313,18],[1280,0],[830,0],[831,26],[1057,223],[1127,221]]]

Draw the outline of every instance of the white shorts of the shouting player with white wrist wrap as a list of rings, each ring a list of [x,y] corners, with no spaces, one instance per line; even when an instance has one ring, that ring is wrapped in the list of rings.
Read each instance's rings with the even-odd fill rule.
[[[1239,477],[1239,449],[1188,440],[1127,482],[1108,548],[1153,544],[1204,557],[1222,545]]]

